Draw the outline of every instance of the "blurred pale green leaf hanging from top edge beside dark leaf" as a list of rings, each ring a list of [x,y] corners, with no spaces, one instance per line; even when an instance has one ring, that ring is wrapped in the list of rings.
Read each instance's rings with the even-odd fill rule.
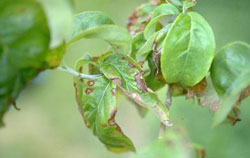
[[[73,23],[71,0],[38,0],[44,8],[50,28],[50,48],[60,47],[69,36]]]

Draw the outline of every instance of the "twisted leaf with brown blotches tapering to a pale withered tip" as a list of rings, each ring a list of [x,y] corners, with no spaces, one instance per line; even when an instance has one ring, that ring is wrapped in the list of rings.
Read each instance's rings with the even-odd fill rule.
[[[170,126],[169,112],[158,96],[147,88],[140,65],[120,53],[105,53],[98,60],[103,74],[139,105],[153,111],[163,124]]]

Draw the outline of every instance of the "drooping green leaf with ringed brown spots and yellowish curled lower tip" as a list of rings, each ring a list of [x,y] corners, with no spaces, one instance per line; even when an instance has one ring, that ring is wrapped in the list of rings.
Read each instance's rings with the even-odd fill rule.
[[[89,61],[79,60],[76,71],[82,73]],[[97,68],[90,64],[91,72]],[[94,71],[93,71],[94,67]],[[90,72],[90,74],[92,74]],[[117,112],[116,85],[104,76],[96,79],[82,79],[75,77],[76,100],[85,124],[112,152],[135,151],[130,139],[123,134],[115,122]]]

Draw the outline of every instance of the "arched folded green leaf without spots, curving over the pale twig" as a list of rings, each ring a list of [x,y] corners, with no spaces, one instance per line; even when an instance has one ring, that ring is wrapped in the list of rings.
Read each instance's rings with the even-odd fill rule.
[[[113,25],[113,21],[101,12],[84,12],[75,16],[68,45],[84,38],[103,39],[119,52],[130,53],[131,50],[132,39],[128,31]]]

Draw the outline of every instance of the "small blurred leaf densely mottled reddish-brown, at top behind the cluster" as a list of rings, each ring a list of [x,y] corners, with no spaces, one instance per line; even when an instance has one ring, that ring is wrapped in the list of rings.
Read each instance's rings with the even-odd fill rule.
[[[150,21],[152,12],[156,8],[155,4],[146,3],[138,8],[130,15],[128,21],[128,30],[131,35],[142,32]]]

